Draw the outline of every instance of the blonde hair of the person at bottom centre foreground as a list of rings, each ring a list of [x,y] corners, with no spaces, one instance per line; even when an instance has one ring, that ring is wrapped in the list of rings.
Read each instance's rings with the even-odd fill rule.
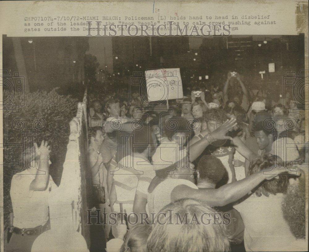
[[[195,220],[195,216],[199,221],[203,219],[204,223],[183,223],[184,216],[188,220]],[[206,224],[205,220],[210,223]],[[161,209],[154,223],[147,241],[148,252],[230,251],[222,217],[216,216],[213,208],[198,200],[181,199],[168,204]]]

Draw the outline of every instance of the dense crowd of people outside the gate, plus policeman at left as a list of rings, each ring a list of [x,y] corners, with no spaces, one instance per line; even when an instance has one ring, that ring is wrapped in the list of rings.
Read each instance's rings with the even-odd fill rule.
[[[104,220],[97,229],[106,241],[91,244],[93,251],[307,250],[308,150],[302,111],[284,106],[297,108],[292,97],[270,99],[229,72],[223,85],[194,84],[168,106],[145,106],[125,89],[90,98],[90,208]],[[28,177],[21,191],[13,187],[23,176],[13,176],[16,232],[7,251],[31,248],[48,225],[46,211],[26,225],[16,210],[20,197],[54,186],[48,144],[25,154],[33,148],[39,154],[31,156],[32,167],[47,172]],[[27,240],[25,229],[39,231]]]

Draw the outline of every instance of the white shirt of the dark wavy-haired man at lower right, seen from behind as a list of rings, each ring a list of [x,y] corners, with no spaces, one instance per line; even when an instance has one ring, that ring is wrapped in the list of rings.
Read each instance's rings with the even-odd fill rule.
[[[245,225],[244,244],[246,251],[294,251],[290,244],[296,238],[283,218],[282,193],[262,195],[255,193],[234,205]]]

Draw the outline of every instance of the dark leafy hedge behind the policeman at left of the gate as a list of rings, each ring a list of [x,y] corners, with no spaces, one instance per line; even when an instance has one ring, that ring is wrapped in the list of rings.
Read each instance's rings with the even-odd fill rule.
[[[3,100],[8,97],[9,93],[3,90]],[[12,143],[21,144],[22,128],[25,130],[34,130],[33,121],[41,120],[34,118],[42,118],[46,125],[39,125],[36,128],[36,140],[40,144],[42,140],[49,142],[51,148],[50,174],[56,184],[59,185],[62,165],[66,155],[66,145],[68,144],[70,134],[70,120],[76,116],[78,100],[70,95],[60,95],[56,89],[51,91],[35,91],[25,94],[16,94],[14,104],[25,105],[19,107],[16,112],[13,110],[3,110],[3,141],[8,143],[8,148],[3,153],[3,189],[4,189],[4,225],[5,229],[9,225],[9,213],[11,209],[10,187],[13,170],[21,169],[21,166],[12,165],[12,161],[19,161],[21,164],[21,149],[10,147]],[[7,107],[10,108],[10,107]],[[11,107],[12,108],[12,107]],[[16,109],[16,108],[15,108]],[[22,118],[22,119],[17,119]],[[24,127],[18,124],[23,121]],[[20,145],[19,145],[20,146]],[[10,161],[9,161],[10,160]],[[25,213],[27,214],[27,213]]]

